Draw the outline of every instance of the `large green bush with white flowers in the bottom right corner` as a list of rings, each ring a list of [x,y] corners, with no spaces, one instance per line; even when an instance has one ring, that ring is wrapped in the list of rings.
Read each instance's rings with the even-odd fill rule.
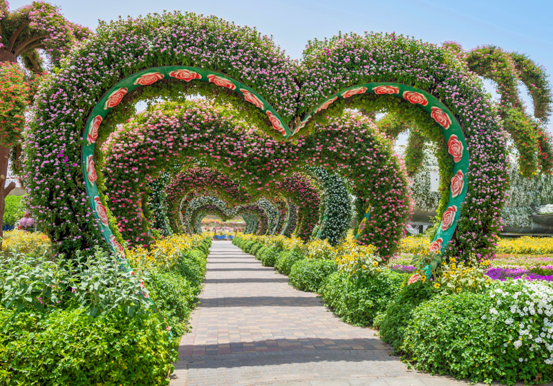
[[[490,383],[553,380],[553,288],[494,282],[482,293],[435,296],[413,310],[400,347],[416,367]]]

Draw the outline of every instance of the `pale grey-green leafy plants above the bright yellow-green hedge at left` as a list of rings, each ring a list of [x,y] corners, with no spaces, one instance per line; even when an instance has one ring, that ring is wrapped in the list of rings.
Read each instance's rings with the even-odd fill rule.
[[[96,249],[93,255],[77,253],[74,260],[52,261],[48,254],[5,253],[0,260],[0,301],[17,311],[47,311],[79,307],[90,316],[122,309],[132,316],[151,302],[142,282],[143,271],[121,269],[114,255]]]

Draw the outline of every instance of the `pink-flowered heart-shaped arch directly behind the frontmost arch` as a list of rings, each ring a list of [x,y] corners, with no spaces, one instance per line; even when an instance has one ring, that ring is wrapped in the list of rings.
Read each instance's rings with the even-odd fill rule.
[[[332,124],[321,126],[316,133],[299,135],[296,145],[275,141],[256,130],[245,132],[246,127],[252,126],[232,118],[234,115],[236,110],[228,106],[206,102],[158,104],[110,135],[103,145],[104,168],[109,175],[105,193],[121,224],[124,240],[133,244],[147,241],[148,222],[142,211],[133,207],[140,208],[147,179],[155,176],[156,171],[174,166],[177,160],[185,165],[198,160],[211,163],[232,177],[236,185],[243,180],[250,200],[271,195],[287,197],[297,205],[297,235],[307,240],[319,218],[319,193],[308,175],[293,172],[304,165],[319,164],[339,168],[357,186],[359,200],[372,202],[378,212],[371,219],[375,231],[366,235],[362,230],[359,239],[376,244],[383,257],[395,252],[409,211],[406,175],[391,153],[391,141],[376,131],[370,119],[344,113],[340,119],[330,119]],[[328,137],[341,144],[326,144]],[[355,148],[348,143],[350,137],[357,142]],[[359,164],[361,168],[357,167]],[[254,175],[243,168],[246,165]],[[244,181],[245,173],[252,175],[253,181]],[[373,184],[364,183],[365,173],[371,176]],[[198,180],[199,187],[203,180]],[[219,182],[214,187],[218,185]],[[180,193],[172,198],[170,207],[176,206],[187,190]],[[105,213],[109,222],[108,209]],[[114,236],[116,240],[119,238]]]

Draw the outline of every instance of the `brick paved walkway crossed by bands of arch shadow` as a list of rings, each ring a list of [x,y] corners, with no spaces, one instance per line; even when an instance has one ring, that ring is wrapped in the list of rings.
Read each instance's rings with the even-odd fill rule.
[[[341,322],[230,242],[213,243],[200,300],[171,386],[467,385],[407,369],[373,329]]]

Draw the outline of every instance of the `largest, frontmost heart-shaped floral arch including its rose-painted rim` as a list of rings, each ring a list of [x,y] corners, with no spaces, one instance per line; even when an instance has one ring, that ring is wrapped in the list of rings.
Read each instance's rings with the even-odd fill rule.
[[[480,81],[451,52],[395,35],[342,35],[310,44],[295,64],[267,37],[216,17],[174,12],[144,19],[101,26],[37,97],[24,144],[26,180],[37,220],[60,251],[115,240],[115,224],[89,178],[95,142],[112,130],[102,126],[109,111],[140,98],[144,88],[179,81],[223,95],[283,139],[331,127],[332,118],[321,123],[326,109],[363,95],[417,106],[440,127],[453,160],[432,248],[491,253],[506,184],[505,137]],[[206,86],[191,86],[198,82]],[[388,204],[382,206],[393,209]],[[362,220],[360,242],[370,241],[382,215],[374,210]]]

